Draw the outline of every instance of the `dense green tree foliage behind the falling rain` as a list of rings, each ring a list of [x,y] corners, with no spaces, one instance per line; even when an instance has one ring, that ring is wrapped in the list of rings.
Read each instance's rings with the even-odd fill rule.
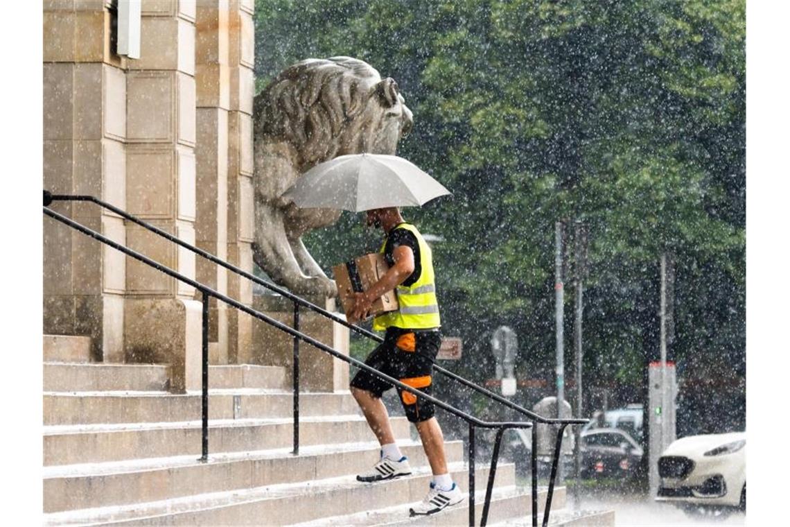
[[[593,383],[641,382],[657,356],[662,253],[677,262],[681,370],[726,357],[744,375],[743,0],[276,0],[257,2],[256,39],[259,86],[333,55],[401,86],[415,130],[399,154],[453,191],[404,213],[445,240],[439,300],[465,374],[491,376],[480,364],[501,324],[520,337],[521,375],[551,369],[564,219],[589,226]],[[328,269],[376,239],[348,214],[307,244]]]

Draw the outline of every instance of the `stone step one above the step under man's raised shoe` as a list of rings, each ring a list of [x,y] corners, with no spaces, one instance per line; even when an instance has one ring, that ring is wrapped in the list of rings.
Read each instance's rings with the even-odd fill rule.
[[[393,417],[396,439],[410,437],[405,417]],[[299,445],[372,441],[373,432],[359,415],[304,417]],[[209,454],[287,448],[293,425],[288,419],[213,420]],[[201,421],[176,423],[89,424],[44,427],[44,466],[100,463],[147,457],[201,454]]]

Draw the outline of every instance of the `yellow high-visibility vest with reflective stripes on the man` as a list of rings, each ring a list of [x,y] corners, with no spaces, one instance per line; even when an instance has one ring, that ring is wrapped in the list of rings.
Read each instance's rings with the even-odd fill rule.
[[[419,245],[419,264],[421,273],[417,281],[405,287],[395,288],[398,310],[380,314],[373,319],[373,329],[383,331],[389,326],[401,329],[431,329],[442,325],[439,319],[439,304],[436,301],[436,285],[434,280],[434,264],[431,258],[431,247],[425,243],[423,236],[412,224],[398,224],[396,228],[404,228],[415,235]],[[384,240],[378,252],[383,253],[387,241]]]

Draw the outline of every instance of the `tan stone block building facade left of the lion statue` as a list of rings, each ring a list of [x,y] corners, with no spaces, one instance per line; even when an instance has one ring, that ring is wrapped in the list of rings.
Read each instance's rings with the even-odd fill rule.
[[[43,187],[109,201],[251,271],[254,0],[141,0],[139,58],[115,54],[117,2],[43,2]],[[114,213],[52,208],[252,304],[246,280]],[[200,294],[43,222],[44,333],[91,337],[96,361],[170,363],[171,390],[197,390]],[[237,362],[250,317],[212,300],[210,321],[211,362]]]

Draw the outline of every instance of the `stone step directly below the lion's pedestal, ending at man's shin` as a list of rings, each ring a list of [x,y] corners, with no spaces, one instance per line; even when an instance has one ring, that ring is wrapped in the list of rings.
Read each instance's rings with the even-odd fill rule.
[[[200,393],[73,392],[44,393],[45,425],[160,423],[201,419]],[[299,415],[359,413],[350,392],[300,393]],[[288,417],[293,393],[278,390],[209,390],[209,420]]]

